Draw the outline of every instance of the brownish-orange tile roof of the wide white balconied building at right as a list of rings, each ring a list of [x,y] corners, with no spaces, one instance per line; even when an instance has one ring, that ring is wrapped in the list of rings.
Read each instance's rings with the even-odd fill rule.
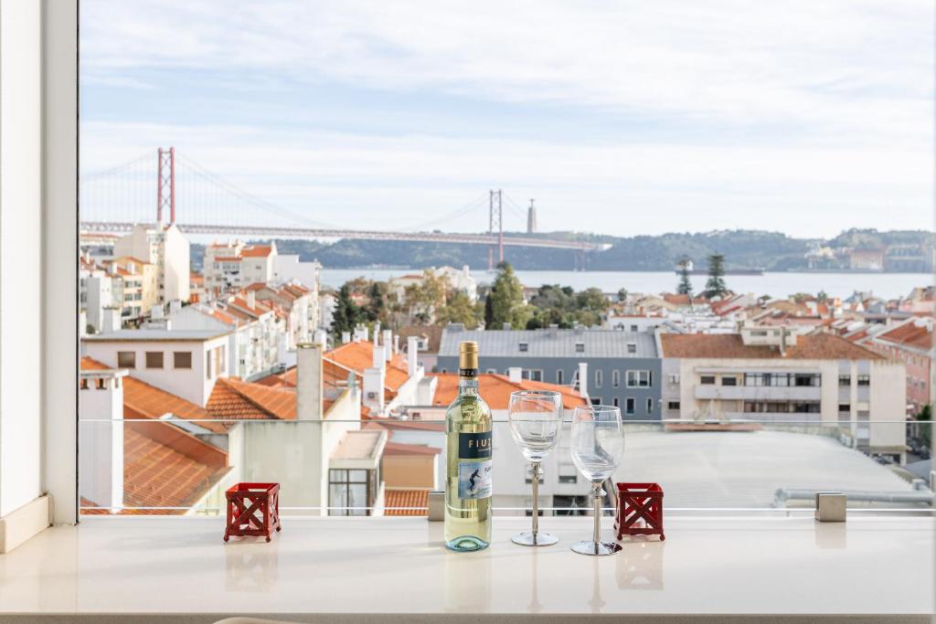
[[[780,358],[777,347],[749,346],[739,334],[661,334],[664,357]],[[797,336],[784,359],[884,359],[833,334]]]

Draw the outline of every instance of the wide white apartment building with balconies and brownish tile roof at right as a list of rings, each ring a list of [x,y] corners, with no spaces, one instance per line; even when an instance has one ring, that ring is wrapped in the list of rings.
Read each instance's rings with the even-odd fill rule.
[[[657,335],[665,419],[838,425],[857,448],[903,457],[906,371],[826,333],[743,327]]]

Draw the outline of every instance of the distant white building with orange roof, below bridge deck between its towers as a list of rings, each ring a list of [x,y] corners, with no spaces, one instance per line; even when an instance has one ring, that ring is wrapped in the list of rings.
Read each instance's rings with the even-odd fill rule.
[[[241,240],[216,242],[205,248],[205,288],[215,296],[252,283],[273,281],[276,243],[247,245]]]

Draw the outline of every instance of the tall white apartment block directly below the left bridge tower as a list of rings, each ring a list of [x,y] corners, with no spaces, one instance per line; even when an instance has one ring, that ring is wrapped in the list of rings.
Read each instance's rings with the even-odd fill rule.
[[[114,243],[114,257],[132,256],[156,266],[158,301],[188,301],[191,264],[189,244],[178,225],[135,225]]]

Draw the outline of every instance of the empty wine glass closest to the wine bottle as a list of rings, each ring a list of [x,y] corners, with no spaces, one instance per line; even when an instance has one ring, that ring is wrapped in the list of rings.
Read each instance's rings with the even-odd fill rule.
[[[507,408],[510,434],[530,462],[533,474],[533,530],[514,535],[514,544],[548,546],[559,538],[539,532],[539,477],[543,474],[543,458],[559,442],[559,428],[563,422],[563,396],[552,390],[519,390],[510,394]]]

